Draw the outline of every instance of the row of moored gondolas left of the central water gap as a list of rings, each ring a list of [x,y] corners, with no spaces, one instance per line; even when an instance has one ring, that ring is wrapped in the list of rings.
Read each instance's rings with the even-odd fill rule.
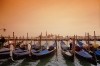
[[[22,45],[25,42],[20,42]],[[28,44],[31,44],[31,42],[29,42]],[[46,43],[45,45],[43,45],[42,47],[40,47],[40,44],[34,44],[31,45],[31,51],[29,52],[27,49],[27,46],[16,46],[16,48],[14,49],[13,53],[12,53],[12,58],[14,60],[17,59],[22,59],[22,58],[29,58],[31,57],[32,59],[39,59],[39,58],[43,58],[49,55],[53,55],[56,51],[56,43],[54,42],[54,44],[47,46],[48,43]],[[10,49],[8,46],[3,47],[0,49],[0,59],[4,59],[4,58],[10,58]]]

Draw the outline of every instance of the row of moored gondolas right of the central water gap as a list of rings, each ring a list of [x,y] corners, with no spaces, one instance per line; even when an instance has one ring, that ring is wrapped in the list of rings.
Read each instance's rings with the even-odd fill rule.
[[[69,39],[67,44],[61,41],[60,45],[63,57],[70,61],[74,61],[74,58],[77,57],[78,59],[84,59],[87,62],[97,65],[97,61],[100,60],[99,44],[91,44],[89,40],[84,43],[82,40],[75,39],[74,37],[73,39]]]

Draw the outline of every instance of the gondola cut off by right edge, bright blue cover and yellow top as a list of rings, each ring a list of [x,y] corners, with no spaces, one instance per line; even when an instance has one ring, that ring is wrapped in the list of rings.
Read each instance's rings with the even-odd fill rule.
[[[100,60],[100,45],[96,44],[96,37],[95,37],[95,31],[94,31],[94,43],[91,43],[88,33],[88,41],[86,41],[86,45],[88,47],[84,48],[86,51],[88,51],[92,56],[94,56],[95,60]],[[82,43],[82,42],[81,42]]]

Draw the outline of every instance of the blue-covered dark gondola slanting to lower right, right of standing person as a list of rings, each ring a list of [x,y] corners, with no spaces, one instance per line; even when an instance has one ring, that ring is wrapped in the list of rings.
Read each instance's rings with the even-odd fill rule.
[[[84,50],[83,43],[81,41],[77,41],[75,54],[77,58],[84,59],[94,65],[97,65],[96,59],[93,55],[91,55],[88,51]]]

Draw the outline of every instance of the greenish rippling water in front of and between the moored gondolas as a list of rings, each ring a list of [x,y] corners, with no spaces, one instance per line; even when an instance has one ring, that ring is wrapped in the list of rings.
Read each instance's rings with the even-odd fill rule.
[[[33,42],[34,43],[34,42]],[[36,42],[35,42],[36,43]],[[42,45],[45,43],[45,41],[42,42]],[[53,44],[54,42],[48,41],[49,45]],[[60,45],[60,42],[57,42],[58,45]],[[67,42],[65,42],[67,44]],[[97,43],[100,44],[100,41]],[[74,62],[70,62],[68,60],[65,60],[63,56],[61,55],[60,47],[58,46],[58,56],[56,55],[43,58],[41,60],[33,60],[33,59],[21,59],[16,60],[14,62],[10,62],[7,59],[0,59],[0,66],[95,66],[87,61],[77,59],[75,57]],[[97,66],[100,66],[100,62],[98,62]]]

